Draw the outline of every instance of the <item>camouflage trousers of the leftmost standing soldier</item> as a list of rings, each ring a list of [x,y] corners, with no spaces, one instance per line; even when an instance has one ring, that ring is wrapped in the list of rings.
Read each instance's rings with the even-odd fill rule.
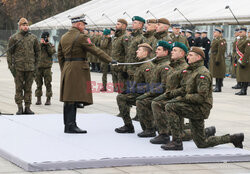
[[[29,107],[31,104],[32,97],[32,84],[34,79],[33,71],[19,71],[16,70],[15,77],[15,85],[16,85],[16,94],[15,94],[15,102],[21,107],[23,100],[25,102],[25,106]]]

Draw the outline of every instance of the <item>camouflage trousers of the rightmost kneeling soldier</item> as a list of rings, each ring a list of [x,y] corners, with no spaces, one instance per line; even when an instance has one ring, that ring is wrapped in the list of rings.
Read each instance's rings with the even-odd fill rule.
[[[181,119],[188,118],[192,132],[192,138],[198,148],[213,147],[230,142],[230,135],[206,137],[203,114],[197,104],[185,102],[168,103],[165,106],[169,119],[173,140],[181,139]]]

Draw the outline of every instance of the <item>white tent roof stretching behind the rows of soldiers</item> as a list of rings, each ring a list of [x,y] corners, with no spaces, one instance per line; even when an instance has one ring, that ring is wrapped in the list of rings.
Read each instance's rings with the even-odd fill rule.
[[[194,25],[209,25],[237,24],[234,14],[240,24],[249,24],[249,7],[249,0],[92,0],[33,24],[31,29],[69,28],[69,16],[83,13],[88,28],[112,26],[118,18],[125,18],[131,24],[130,17],[134,15],[145,19],[165,17],[172,23],[189,24],[183,14]]]

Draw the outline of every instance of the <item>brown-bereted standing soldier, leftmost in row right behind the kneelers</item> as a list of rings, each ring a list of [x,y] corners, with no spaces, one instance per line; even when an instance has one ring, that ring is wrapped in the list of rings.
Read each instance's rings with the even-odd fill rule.
[[[118,19],[116,23],[115,35],[112,39],[112,49],[111,49],[111,57],[115,57],[115,59],[124,63],[127,53],[128,47],[128,36],[126,36],[126,28],[128,22],[125,19]],[[123,66],[111,66],[112,71],[112,79],[114,85],[114,91],[118,92],[118,90],[126,83],[127,72],[123,71]]]

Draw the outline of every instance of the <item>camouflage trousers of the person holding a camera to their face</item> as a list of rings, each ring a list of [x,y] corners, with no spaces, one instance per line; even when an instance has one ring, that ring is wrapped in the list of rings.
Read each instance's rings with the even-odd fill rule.
[[[52,87],[51,87],[51,81],[52,81],[52,72],[51,68],[38,68],[36,71],[36,97],[41,97],[43,95],[42,86],[43,81],[46,87],[46,97],[52,97]]]

